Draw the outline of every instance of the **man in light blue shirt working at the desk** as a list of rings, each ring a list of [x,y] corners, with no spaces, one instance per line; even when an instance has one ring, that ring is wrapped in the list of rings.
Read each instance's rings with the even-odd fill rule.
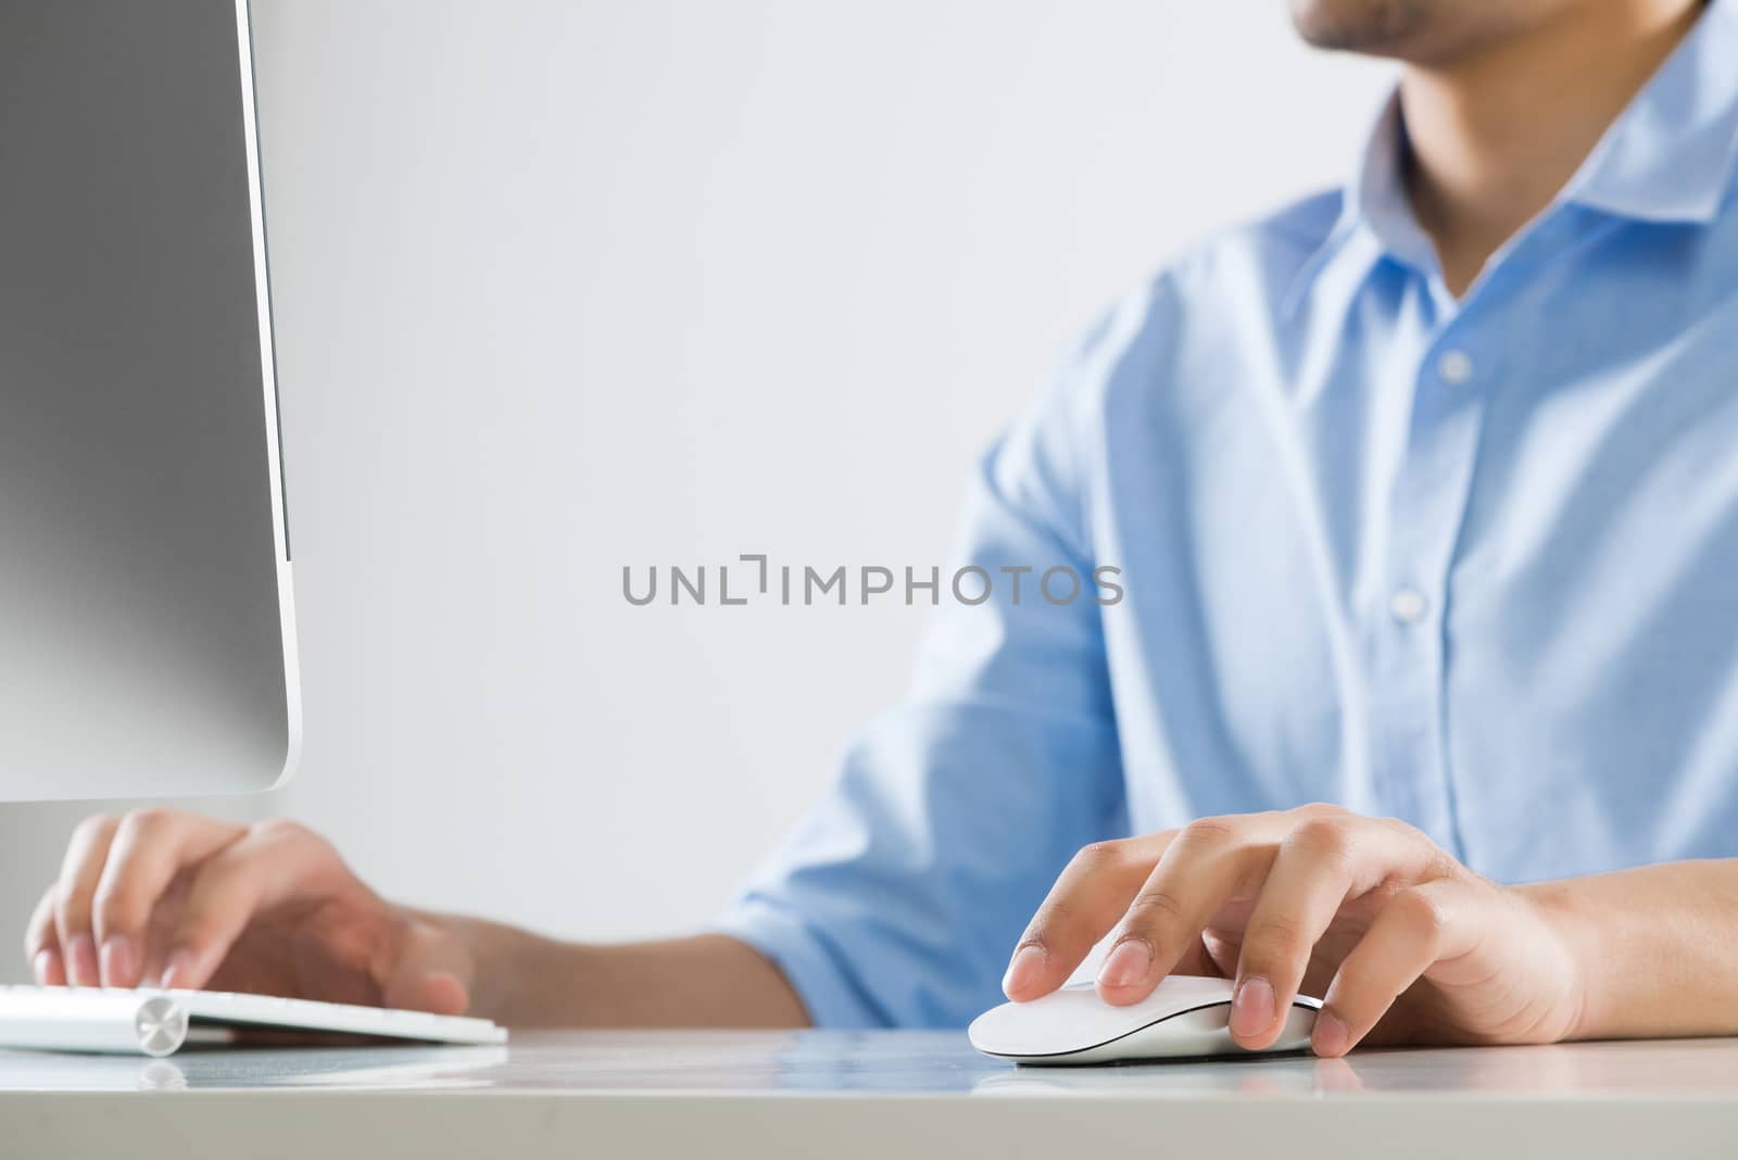
[[[1300,988],[1324,1056],[1738,1031],[1738,3],[1295,16],[1404,63],[1354,179],[1130,297],[970,495],[965,563],[1126,597],[940,613],[716,931],[556,943],[148,811],[76,830],[38,978],[959,1025],[1111,934],[1109,1002],[1225,974],[1248,1047]]]

